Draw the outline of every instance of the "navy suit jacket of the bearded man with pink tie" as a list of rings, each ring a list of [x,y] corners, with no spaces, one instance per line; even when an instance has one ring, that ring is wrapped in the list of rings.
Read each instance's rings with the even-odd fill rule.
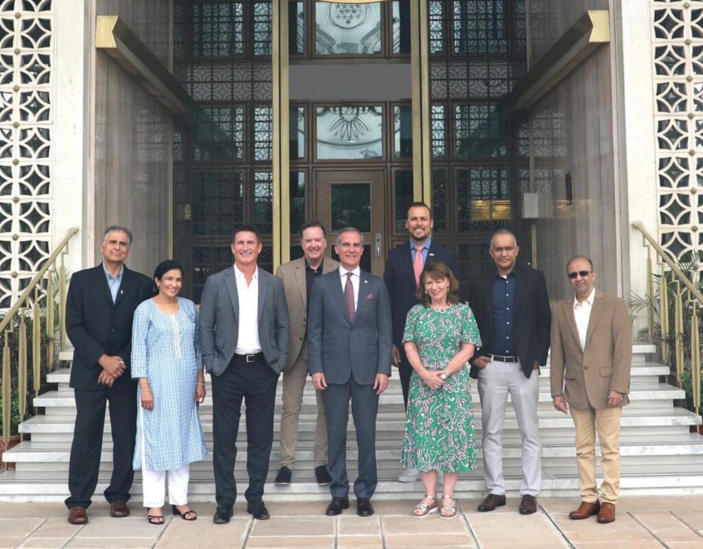
[[[449,248],[432,240],[430,248],[427,250],[425,266],[432,261],[442,261],[449,267],[457,280],[461,280],[459,263],[456,254]],[[391,250],[386,260],[386,268],[383,272],[383,281],[388,290],[388,299],[391,304],[393,315],[393,342],[401,349],[403,347],[403,333],[405,322],[408,318],[408,311],[418,304],[415,298],[415,269],[413,269],[413,258],[411,257],[411,247],[409,243],[401,244]],[[461,288],[460,290],[461,291]]]

